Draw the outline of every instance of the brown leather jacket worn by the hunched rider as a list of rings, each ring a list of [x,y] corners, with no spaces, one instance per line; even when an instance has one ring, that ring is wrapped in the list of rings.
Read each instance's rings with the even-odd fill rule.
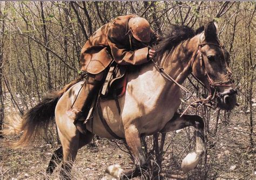
[[[80,70],[91,74],[103,71],[112,60],[118,64],[142,64],[147,62],[149,48],[142,42],[131,43],[127,23],[135,15],[119,16],[100,27],[82,48]]]

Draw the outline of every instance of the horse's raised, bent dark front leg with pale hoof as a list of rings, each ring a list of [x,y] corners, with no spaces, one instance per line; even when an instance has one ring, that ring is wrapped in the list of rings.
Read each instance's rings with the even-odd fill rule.
[[[194,152],[189,153],[181,163],[181,169],[184,173],[195,168],[199,160],[203,157],[205,153],[204,145],[204,121],[199,116],[174,114],[173,118],[165,125],[165,127],[160,131],[166,133],[169,131],[176,131],[187,126],[193,126],[196,132],[196,147]]]

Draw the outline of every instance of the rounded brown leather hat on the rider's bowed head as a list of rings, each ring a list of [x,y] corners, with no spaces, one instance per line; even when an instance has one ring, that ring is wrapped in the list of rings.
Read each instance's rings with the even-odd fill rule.
[[[150,27],[149,22],[142,17],[132,17],[129,19],[128,26],[131,30],[132,36],[141,42],[150,42],[151,33],[154,31]]]

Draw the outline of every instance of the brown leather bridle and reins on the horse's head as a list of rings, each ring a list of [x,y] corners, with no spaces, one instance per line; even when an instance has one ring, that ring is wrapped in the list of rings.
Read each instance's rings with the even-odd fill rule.
[[[203,33],[202,33],[203,34]],[[201,38],[200,38],[201,39]],[[178,85],[178,87],[182,90],[184,90],[185,92],[189,93],[191,95],[191,97],[193,97],[193,99],[195,100],[194,102],[192,102],[191,104],[189,104],[186,109],[184,110],[183,113],[181,113],[180,117],[183,116],[183,114],[189,109],[190,106],[192,107],[198,107],[199,105],[206,105],[208,107],[212,107],[213,109],[215,109],[217,107],[217,98],[220,98],[220,97],[223,97],[225,95],[230,95],[230,94],[233,94],[233,93],[237,93],[235,92],[235,90],[231,90],[229,92],[223,92],[223,93],[220,93],[220,92],[217,92],[217,87],[231,87],[233,85],[233,81],[231,79],[231,75],[232,75],[232,71],[228,68],[227,66],[227,61],[226,61],[226,57],[225,57],[225,53],[224,53],[224,49],[223,49],[223,46],[220,45],[220,42],[218,40],[218,43],[219,44],[212,44],[212,43],[201,43],[200,42],[200,39],[199,39],[199,44],[198,44],[198,48],[196,50],[196,53],[194,54],[194,57],[193,57],[193,60],[192,60],[192,65],[191,67],[193,67],[193,64],[194,64],[194,61],[196,60],[197,56],[199,55],[199,60],[200,60],[200,64],[201,66],[203,66],[203,55],[201,53],[201,47],[205,46],[205,45],[213,45],[213,46],[218,46],[221,48],[221,52],[223,53],[223,56],[224,56],[224,61],[225,61],[225,65],[226,65],[226,69],[227,69],[227,75],[229,80],[226,81],[226,82],[214,82],[212,80],[212,78],[209,76],[209,74],[207,73],[206,71],[206,68],[205,68],[205,74],[207,75],[207,80],[210,84],[210,87],[211,89],[214,90],[213,94],[211,93],[211,95],[209,95],[206,99],[198,99],[197,97],[193,96],[193,93],[190,92],[189,90],[187,90],[183,85],[179,84],[177,81],[175,81],[169,74],[167,74],[165,71],[164,71],[164,68],[163,67],[160,67],[158,63],[156,63],[153,59],[151,59],[151,61],[154,63],[154,65],[158,68],[160,74],[166,78],[166,80],[170,81],[170,82],[173,82],[174,84]],[[192,74],[192,73],[191,73]],[[196,80],[203,85],[203,87],[205,87],[205,85],[196,77],[192,74],[192,76],[194,78],[196,78]],[[206,88],[206,87],[205,87]],[[211,102],[213,101],[214,99],[216,98],[215,100],[215,106],[212,106],[211,104],[208,104],[208,102]],[[184,102],[184,101],[183,101]],[[186,103],[186,102],[185,102]]]

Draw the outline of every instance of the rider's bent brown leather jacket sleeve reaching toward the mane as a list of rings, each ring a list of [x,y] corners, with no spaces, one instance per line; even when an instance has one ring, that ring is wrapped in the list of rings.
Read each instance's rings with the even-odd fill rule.
[[[149,48],[144,47],[131,51],[127,48],[127,45],[125,46],[127,42],[122,42],[122,39],[124,41],[124,38],[120,37],[124,37],[124,34],[118,32],[117,27],[111,27],[108,33],[108,43],[114,61],[122,65],[139,65],[148,61],[147,54],[149,53]]]

